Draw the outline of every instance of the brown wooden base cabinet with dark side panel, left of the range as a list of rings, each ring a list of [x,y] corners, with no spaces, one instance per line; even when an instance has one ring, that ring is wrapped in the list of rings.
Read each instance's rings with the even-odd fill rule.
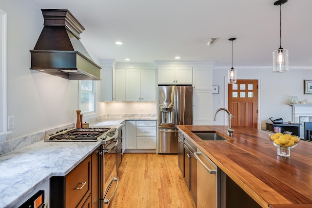
[[[50,178],[50,208],[82,207],[91,200],[91,156],[65,177]]]

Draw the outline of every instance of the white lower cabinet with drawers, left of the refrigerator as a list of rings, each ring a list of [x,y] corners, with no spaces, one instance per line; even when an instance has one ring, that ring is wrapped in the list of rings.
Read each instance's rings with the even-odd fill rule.
[[[126,150],[156,151],[156,121],[126,121],[126,134]]]

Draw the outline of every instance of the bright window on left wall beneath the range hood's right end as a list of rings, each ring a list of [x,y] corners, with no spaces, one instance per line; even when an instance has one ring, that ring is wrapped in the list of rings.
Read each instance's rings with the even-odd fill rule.
[[[81,113],[96,112],[96,87],[93,80],[80,81],[80,110]]]

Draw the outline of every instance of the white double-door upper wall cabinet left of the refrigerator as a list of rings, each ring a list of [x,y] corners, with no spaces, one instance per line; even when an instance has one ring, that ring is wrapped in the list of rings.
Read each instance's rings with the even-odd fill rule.
[[[156,70],[126,70],[126,101],[156,101]]]

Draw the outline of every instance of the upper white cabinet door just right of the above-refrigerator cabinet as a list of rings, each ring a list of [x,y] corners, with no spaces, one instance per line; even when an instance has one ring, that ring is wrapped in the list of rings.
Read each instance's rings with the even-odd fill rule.
[[[213,78],[212,69],[197,68],[193,69],[193,87],[194,90],[212,90]]]

